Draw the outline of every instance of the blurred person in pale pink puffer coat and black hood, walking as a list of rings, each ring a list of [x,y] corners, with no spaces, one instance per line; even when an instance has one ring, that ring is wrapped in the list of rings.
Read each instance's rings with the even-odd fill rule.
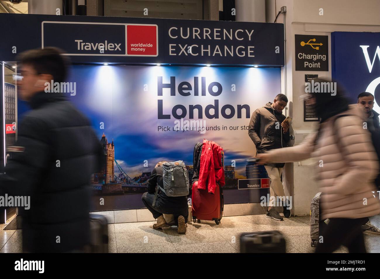
[[[333,252],[340,245],[347,246],[349,252],[366,252],[361,226],[366,217],[380,213],[380,202],[374,195],[378,158],[363,123],[366,121],[363,112],[356,104],[348,105],[339,87],[333,95],[309,93],[315,113],[321,119],[317,132],[300,145],[272,150],[258,157],[261,164],[315,157],[322,192],[320,220],[329,219],[325,231],[320,232],[323,242],[318,243],[316,252]]]

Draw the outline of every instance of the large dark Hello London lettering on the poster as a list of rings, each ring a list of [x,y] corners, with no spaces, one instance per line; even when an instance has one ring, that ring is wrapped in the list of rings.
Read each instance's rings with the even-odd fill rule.
[[[199,90],[200,87],[200,90]],[[207,87],[207,92],[206,92]],[[163,96],[163,88],[169,88],[170,89],[170,96],[176,96],[176,77],[171,76],[170,77],[170,83],[164,83],[163,77],[158,76],[157,78],[157,96]],[[215,88],[215,89],[214,89]],[[207,93],[211,96],[217,97],[222,94],[223,87],[219,82],[211,82],[210,84],[206,84],[206,77],[194,77],[193,84],[190,84],[190,82],[182,81],[179,83],[177,87],[177,92],[181,96],[207,96]],[[222,108],[219,110],[219,100],[214,99],[214,104],[208,104],[206,107],[203,108],[200,104],[189,104],[188,110],[185,106],[177,104],[173,106],[173,109],[171,110],[171,115],[168,114],[167,111],[164,111],[163,109],[163,100],[158,99],[157,100],[157,108],[158,108],[158,119],[171,119],[171,116],[173,115],[176,119],[186,118],[194,119],[194,115],[196,113],[196,118],[203,119],[204,117],[208,119],[218,119],[219,118],[219,112],[220,115],[222,115],[223,118],[230,119],[233,118],[235,115],[237,118],[250,118],[250,107],[248,104],[238,104],[236,106],[236,109],[231,104],[225,104],[222,106]],[[180,110],[180,113],[177,111]],[[204,111],[204,115],[203,115]]]

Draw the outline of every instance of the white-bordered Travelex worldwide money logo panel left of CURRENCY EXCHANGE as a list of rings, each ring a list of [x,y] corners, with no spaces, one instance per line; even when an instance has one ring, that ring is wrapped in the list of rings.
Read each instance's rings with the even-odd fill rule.
[[[66,55],[158,56],[158,26],[149,24],[43,21],[42,48],[59,46],[57,35],[67,30],[79,32],[67,40]]]

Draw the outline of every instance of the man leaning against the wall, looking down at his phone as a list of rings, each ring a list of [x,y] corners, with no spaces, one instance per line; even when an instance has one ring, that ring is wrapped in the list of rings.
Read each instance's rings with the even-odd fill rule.
[[[249,122],[248,134],[256,146],[256,154],[264,153],[271,149],[287,147],[290,139],[290,123],[285,120],[282,110],[288,104],[287,96],[278,94],[273,103],[268,102],[264,107],[256,109],[252,113]],[[266,217],[275,220],[282,220],[280,214],[273,208],[272,199],[276,197],[285,197],[283,185],[281,182],[282,169],[285,163],[265,164],[265,169],[271,179],[270,192],[271,202],[269,203]],[[272,198],[274,197],[274,198]],[[267,201],[268,202],[268,201]],[[285,200],[283,200],[285,202]],[[283,206],[283,213],[286,218],[290,217],[290,209]]]

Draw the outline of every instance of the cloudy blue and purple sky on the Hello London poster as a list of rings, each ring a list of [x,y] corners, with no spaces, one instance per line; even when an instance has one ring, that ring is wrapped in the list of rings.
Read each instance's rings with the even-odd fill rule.
[[[171,76],[175,77],[175,96],[171,96],[170,88],[164,88],[163,96],[158,96],[158,77],[168,84]],[[194,77],[199,77],[199,96],[194,94]],[[206,96],[201,96],[201,77],[206,77]],[[114,139],[115,159],[130,177],[152,170],[161,159],[192,165],[194,145],[203,138],[220,144],[225,150],[225,165],[235,160],[236,174],[245,176],[246,160],[255,155],[255,149],[244,126],[248,126],[255,109],[280,93],[279,68],[76,65],[69,81],[76,82],[76,95],[71,101],[90,118],[99,140],[103,132],[109,141]],[[191,84],[192,90],[187,90],[190,96],[178,92],[178,85],[184,81]],[[222,86],[220,95],[207,92],[211,82]],[[216,92],[217,87],[213,90]],[[163,114],[171,115],[171,119],[158,119],[158,100],[162,100]],[[218,118],[208,119],[206,106],[214,105],[215,100],[219,102]],[[220,130],[204,134],[173,131],[176,119],[172,108],[179,104],[187,109],[184,120],[189,120],[189,105],[201,105],[204,126]],[[221,113],[226,104],[235,110],[230,119]],[[242,118],[237,118],[238,105],[244,104],[249,106],[249,117],[242,109]],[[225,112],[231,113],[230,109]],[[194,120],[198,120],[198,110],[194,110]],[[104,130],[100,122],[105,123]],[[227,129],[223,130],[222,125]],[[158,131],[158,126],[169,126],[171,131]],[[148,160],[147,168],[144,160]]]

